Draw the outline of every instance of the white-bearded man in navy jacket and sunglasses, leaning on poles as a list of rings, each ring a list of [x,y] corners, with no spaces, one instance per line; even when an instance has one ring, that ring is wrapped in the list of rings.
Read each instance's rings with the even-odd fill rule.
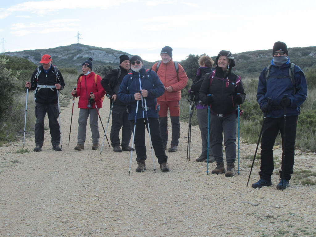
[[[167,165],[168,157],[163,148],[159,132],[159,106],[157,106],[156,99],[165,92],[164,86],[154,71],[146,70],[143,67],[143,59],[141,57],[138,55],[132,56],[130,62],[131,73],[123,78],[118,97],[119,100],[129,107],[129,120],[132,122],[136,120],[136,134],[133,134],[138,164],[136,171],[142,172],[146,169],[145,124],[147,125],[147,119],[152,145],[158,158],[160,169],[163,172],[169,171]]]

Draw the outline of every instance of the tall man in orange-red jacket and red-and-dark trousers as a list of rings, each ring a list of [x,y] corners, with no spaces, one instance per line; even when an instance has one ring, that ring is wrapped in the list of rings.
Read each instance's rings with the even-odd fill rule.
[[[185,70],[177,62],[172,60],[172,48],[165,46],[162,48],[161,61],[155,63],[152,70],[157,72],[161,82],[165,87],[165,93],[157,98],[160,104],[159,111],[159,129],[163,140],[165,150],[168,142],[168,108],[171,120],[171,146],[169,152],[175,152],[178,149],[180,138],[180,105],[181,89],[185,88],[188,82]]]

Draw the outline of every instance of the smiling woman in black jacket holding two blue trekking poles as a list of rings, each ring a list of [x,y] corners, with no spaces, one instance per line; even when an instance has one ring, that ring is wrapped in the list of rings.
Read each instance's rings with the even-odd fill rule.
[[[205,75],[199,96],[210,106],[210,145],[217,165],[212,174],[225,173],[231,177],[235,174],[237,106],[245,101],[246,94],[240,76],[232,73],[232,53],[222,50],[215,63],[216,70]],[[223,162],[223,133],[227,171]]]

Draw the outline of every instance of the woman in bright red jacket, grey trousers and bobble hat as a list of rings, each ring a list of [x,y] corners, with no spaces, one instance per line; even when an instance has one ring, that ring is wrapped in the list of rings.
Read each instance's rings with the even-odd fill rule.
[[[92,150],[99,147],[98,111],[102,108],[102,99],[106,91],[101,85],[102,78],[92,71],[92,58],[82,63],[82,74],[78,77],[76,90],[72,95],[79,97],[78,108],[78,144],[75,150],[83,150],[86,141],[87,121],[90,115],[90,128],[92,132]],[[98,110],[98,111],[97,111]]]

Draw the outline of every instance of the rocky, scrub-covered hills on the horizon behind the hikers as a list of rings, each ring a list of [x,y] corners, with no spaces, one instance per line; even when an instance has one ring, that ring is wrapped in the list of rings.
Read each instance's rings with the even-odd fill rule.
[[[236,61],[236,66],[234,69],[236,70],[236,73],[240,76],[257,77],[260,74],[261,70],[266,65],[270,64],[272,58],[271,51],[272,49],[248,51],[234,54]],[[39,64],[41,56],[46,53],[52,56],[54,64],[58,65],[59,67],[80,66],[82,62],[89,57],[93,58],[95,68],[100,65],[106,64],[116,67],[119,63],[119,55],[127,54],[131,56],[127,52],[82,44],[72,44],[69,46],[60,46],[51,49],[6,52],[5,54],[9,56],[27,58],[33,63]],[[289,57],[292,63],[299,65],[303,70],[307,70],[308,68],[316,65],[316,46],[289,48]],[[214,56],[213,58],[215,60],[216,56]],[[186,63],[184,62],[186,60],[188,59],[185,59],[180,63],[186,65]],[[144,63],[148,63],[149,65],[153,64],[152,62],[147,61],[144,61]],[[193,71],[196,71],[196,62],[195,64],[189,63],[188,65],[190,65],[190,67],[194,67]],[[188,71],[188,68],[185,68],[185,70]]]

